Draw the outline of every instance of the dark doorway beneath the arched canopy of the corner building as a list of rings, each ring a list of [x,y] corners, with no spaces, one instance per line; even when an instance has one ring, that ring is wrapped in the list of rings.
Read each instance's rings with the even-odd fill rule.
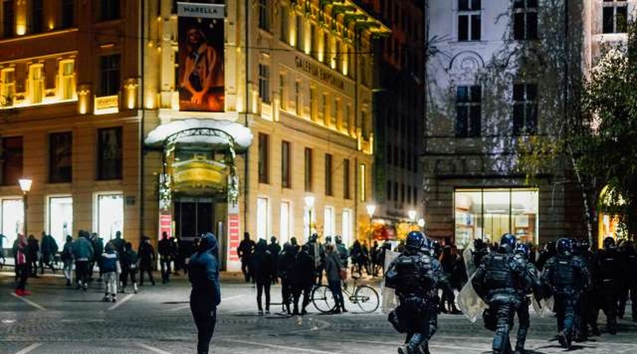
[[[196,236],[214,232],[214,204],[211,198],[181,198],[173,209],[175,234],[192,241]]]

